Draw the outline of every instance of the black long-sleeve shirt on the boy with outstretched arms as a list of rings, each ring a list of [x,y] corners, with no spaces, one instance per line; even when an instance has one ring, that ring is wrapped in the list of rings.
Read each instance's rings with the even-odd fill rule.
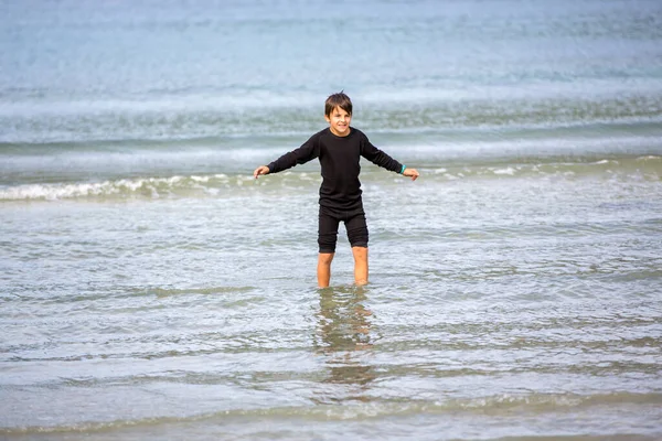
[[[301,147],[285,153],[269,165],[269,173],[278,173],[297,164],[319,158],[322,168],[320,205],[341,211],[362,208],[359,164],[361,157],[392,172],[403,165],[374,147],[367,137],[350,127],[350,135],[338,137],[327,128],[314,133]]]

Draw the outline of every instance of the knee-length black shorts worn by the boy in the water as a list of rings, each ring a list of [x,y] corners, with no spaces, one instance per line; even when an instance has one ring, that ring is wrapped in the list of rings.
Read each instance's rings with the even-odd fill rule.
[[[335,252],[338,226],[341,220],[345,224],[350,245],[367,248],[367,224],[363,208],[345,213],[320,205],[320,228],[318,230],[320,252]]]

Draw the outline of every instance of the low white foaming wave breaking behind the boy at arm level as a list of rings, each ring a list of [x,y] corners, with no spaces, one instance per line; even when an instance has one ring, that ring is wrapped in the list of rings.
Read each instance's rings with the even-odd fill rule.
[[[584,158],[509,158],[489,162],[451,160],[427,162],[417,166],[427,182],[494,179],[623,179],[660,181],[662,155]],[[365,168],[364,184],[392,184],[391,173]],[[402,178],[396,178],[395,181]],[[319,171],[293,169],[256,181],[245,174],[172,175],[160,178],[116,179],[103,182],[30,183],[0,186],[0,201],[57,201],[98,198],[218,197],[241,195],[247,191],[314,191]]]

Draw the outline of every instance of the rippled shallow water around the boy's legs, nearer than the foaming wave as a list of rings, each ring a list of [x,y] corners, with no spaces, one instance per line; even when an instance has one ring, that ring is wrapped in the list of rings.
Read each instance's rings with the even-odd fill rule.
[[[659,179],[369,172],[323,290],[316,184],[246,185],[3,205],[6,435],[660,434]]]

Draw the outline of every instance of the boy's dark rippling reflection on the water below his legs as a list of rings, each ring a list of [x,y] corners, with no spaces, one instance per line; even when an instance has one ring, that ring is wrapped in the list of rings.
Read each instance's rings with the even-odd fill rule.
[[[372,312],[367,309],[367,288],[338,287],[319,290],[320,310],[314,348],[324,357],[328,376],[324,384],[348,385],[351,389],[342,397],[320,398],[339,401],[355,399],[366,401],[367,386],[375,379],[370,364]]]

